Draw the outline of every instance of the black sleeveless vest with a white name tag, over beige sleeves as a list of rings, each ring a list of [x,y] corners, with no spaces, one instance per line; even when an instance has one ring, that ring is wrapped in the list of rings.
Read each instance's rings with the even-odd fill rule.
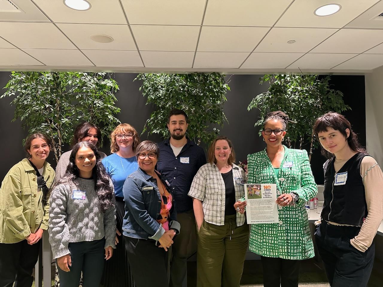
[[[336,173],[334,160],[324,164],[322,220],[360,226],[367,216],[367,203],[360,163],[366,153],[357,153]],[[347,179],[345,176],[347,175]],[[345,181],[345,182],[344,182]]]

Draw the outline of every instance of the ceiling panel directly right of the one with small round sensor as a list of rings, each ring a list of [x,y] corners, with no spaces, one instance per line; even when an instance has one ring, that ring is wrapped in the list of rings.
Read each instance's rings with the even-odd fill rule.
[[[383,42],[383,30],[341,29],[319,44],[313,53],[362,53]]]

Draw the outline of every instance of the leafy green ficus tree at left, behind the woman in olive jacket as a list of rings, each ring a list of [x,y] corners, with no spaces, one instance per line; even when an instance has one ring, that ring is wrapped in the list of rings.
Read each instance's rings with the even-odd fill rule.
[[[29,134],[50,136],[56,162],[78,123],[92,122],[103,137],[119,124],[115,117],[120,111],[115,106],[118,84],[108,73],[12,72],[4,89],[1,98],[14,97],[13,121],[20,118]]]

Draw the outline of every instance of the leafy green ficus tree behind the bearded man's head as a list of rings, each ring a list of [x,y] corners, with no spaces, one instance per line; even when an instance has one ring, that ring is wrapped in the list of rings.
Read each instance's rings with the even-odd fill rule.
[[[142,80],[139,90],[147,97],[146,104],[155,106],[142,133],[147,131],[167,137],[167,119],[173,108],[182,109],[188,115],[187,135],[198,144],[211,143],[219,134],[216,126],[227,121],[223,104],[230,88],[219,73],[141,73],[135,80]]]

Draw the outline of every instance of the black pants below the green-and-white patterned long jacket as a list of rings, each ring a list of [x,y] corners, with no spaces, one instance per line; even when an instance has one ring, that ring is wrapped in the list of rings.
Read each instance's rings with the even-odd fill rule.
[[[264,287],[298,287],[301,260],[261,256]]]

